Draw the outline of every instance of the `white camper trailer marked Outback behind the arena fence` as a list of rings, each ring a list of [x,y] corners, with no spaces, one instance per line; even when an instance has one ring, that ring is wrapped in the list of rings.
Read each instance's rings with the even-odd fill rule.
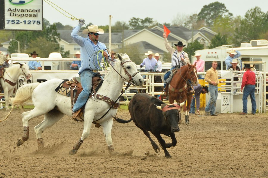
[[[233,48],[232,45],[222,45],[213,49],[203,49],[197,50],[195,52],[200,53],[200,59],[203,59],[205,61],[205,71],[211,68],[212,61],[218,62],[219,66],[217,69],[226,70],[225,59],[229,55],[227,52],[231,49],[238,50],[241,53],[239,59],[241,59],[242,62],[268,62],[267,45],[267,40],[251,40],[250,43],[241,43],[241,46],[238,48]],[[195,60],[195,56],[192,56],[192,63]],[[266,65],[266,69],[262,69],[262,64],[255,64],[255,68],[258,71],[268,71],[268,65]]]

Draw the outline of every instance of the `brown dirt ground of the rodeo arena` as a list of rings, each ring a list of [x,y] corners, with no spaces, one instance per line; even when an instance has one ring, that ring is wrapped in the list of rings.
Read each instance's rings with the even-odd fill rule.
[[[0,113],[3,118],[6,111],[1,109]],[[83,123],[68,116],[43,133],[43,152],[37,151],[33,129],[43,116],[29,122],[29,140],[16,147],[23,129],[21,113],[16,109],[8,120],[0,122],[0,178],[268,177],[268,114],[190,116],[190,125],[185,125],[182,115],[177,146],[168,149],[172,158],[166,159],[163,150],[154,152],[133,122],[116,121],[112,136],[118,155],[109,155],[102,128],[92,125],[78,153],[69,156],[81,137]],[[129,119],[130,115],[119,109],[119,117]],[[163,138],[171,142],[169,137]]]

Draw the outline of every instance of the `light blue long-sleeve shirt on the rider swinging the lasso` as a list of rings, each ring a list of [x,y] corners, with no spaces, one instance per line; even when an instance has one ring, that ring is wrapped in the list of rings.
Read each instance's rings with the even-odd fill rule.
[[[102,61],[102,52],[99,50],[105,50],[107,49],[105,44],[101,42],[97,42],[97,45],[95,45],[89,38],[84,38],[79,36],[77,33],[80,30],[80,26],[77,25],[74,27],[72,33],[71,33],[71,38],[78,44],[80,45],[80,52],[81,52],[81,67],[79,69],[79,74],[85,70],[99,70],[99,64]],[[94,54],[96,53],[96,54]],[[99,64],[98,64],[99,61]]]

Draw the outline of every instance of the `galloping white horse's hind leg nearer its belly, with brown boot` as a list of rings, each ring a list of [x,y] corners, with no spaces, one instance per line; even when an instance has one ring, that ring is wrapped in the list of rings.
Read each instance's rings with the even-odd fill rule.
[[[38,149],[44,148],[44,141],[42,138],[42,133],[49,127],[53,126],[56,122],[58,122],[61,118],[63,118],[64,114],[56,109],[53,109],[45,114],[45,119],[35,126],[35,136],[37,138]]]

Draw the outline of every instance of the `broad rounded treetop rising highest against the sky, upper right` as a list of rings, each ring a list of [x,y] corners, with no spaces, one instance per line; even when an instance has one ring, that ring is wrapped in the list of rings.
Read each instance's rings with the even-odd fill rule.
[[[214,19],[224,15],[229,17],[233,16],[233,14],[226,9],[225,4],[216,1],[203,6],[198,14],[198,20],[204,20],[207,26],[212,26]]]

